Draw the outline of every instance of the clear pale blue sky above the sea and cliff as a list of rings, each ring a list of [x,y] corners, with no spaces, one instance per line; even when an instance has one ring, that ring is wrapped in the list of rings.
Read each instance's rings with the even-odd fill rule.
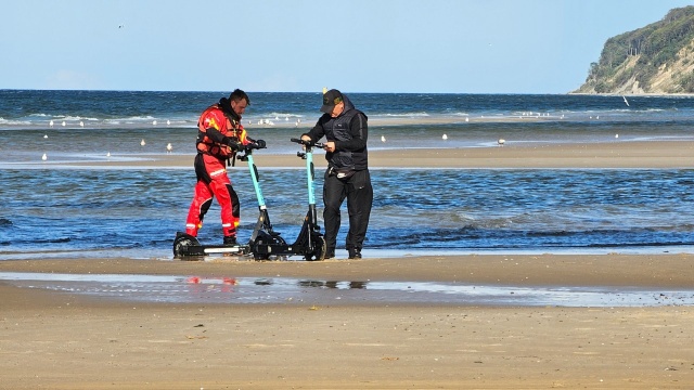
[[[691,3],[4,1],[0,89],[566,93],[608,38]]]

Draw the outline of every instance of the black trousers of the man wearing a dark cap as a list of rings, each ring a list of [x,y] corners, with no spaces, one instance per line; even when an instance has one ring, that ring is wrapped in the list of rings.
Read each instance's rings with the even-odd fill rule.
[[[369,170],[357,171],[349,178],[338,179],[329,169],[325,171],[323,184],[323,220],[325,222],[325,244],[329,252],[335,251],[337,232],[339,231],[340,214],[339,208],[347,198],[347,212],[349,214],[349,232],[345,247],[361,250],[367,227],[369,227],[369,217],[371,216],[371,205],[373,204],[373,187],[371,186],[371,176]]]

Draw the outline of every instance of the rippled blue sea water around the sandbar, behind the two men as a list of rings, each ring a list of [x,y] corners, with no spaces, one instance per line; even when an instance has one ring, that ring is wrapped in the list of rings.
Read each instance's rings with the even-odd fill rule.
[[[170,258],[192,198],[192,167],[65,169],[65,164],[137,162],[165,155],[168,143],[171,153],[192,156],[200,113],[226,95],[0,90],[0,260]],[[266,140],[268,152],[296,153],[288,140],[318,119],[320,93],[249,95],[243,118],[249,134]],[[694,142],[692,98],[349,96],[370,118],[371,151],[410,147],[414,159],[421,148],[491,146],[499,138],[549,144],[616,142],[616,136],[619,142]],[[274,227],[292,240],[306,213],[306,173],[264,167],[262,151],[255,157]],[[241,198],[243,242],[255,225],[257,203],[247,168],[230,170]],[[691,252],[694,246],[692,169],[372,167],[372,180],[374,205],[364,243],[371,256]],[[319,214],[321,187],[322,174],[317,174]],[[344,248],[346,216],[343,221],[338,248]],[[221,243],[216,204],[200,239]]]

